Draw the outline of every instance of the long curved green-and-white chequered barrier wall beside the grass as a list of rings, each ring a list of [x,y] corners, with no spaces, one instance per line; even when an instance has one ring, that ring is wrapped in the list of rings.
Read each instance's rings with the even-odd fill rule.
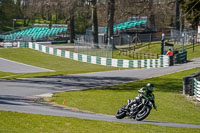
[[[74,53],[32,42],[29,42],[29,48],[51,55],[56,55],[72,60],[87,62],[91,64],[99,64],[104,66],[122,67],[122,68],[158,68],[158,67],[169,66],[169,57],[166,55],[161,55],[160,59],[123,60],[123,59],[113,59],[113,58],[105,58],[99,56]]]

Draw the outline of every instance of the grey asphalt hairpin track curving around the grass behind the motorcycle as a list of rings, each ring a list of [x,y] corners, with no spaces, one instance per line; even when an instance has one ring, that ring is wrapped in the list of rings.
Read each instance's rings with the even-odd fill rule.
[[[200,67],[200,58],[194,59],[191,62],[182,65],[176,65],[168,68],[129,69],[121,71],[75,74],[69,76],[3,80],[0,81],[0,110],[111,122],[200,128],[200,125],[191,124],[158,121],[138,122],[131,119],[118,120],[114,116],[110,115],[74,111],[67,108],[36,103],[34,100],[35,98],[43,96],[43,94],[46,95],[60,91],[84,90],[103,86],[112,86],[196,67]]]

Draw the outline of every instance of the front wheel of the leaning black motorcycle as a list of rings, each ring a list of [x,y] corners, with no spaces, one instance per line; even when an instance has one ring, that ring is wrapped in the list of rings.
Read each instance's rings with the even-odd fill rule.
[[[151,107],[145,106],[141,111],[139,111],[135,117],[137,121],[144,120],[150,113]]]

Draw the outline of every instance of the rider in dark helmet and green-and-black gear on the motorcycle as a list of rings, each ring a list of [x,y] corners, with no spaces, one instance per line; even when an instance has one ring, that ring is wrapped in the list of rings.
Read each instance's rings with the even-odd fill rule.
[[[128,104],[127,108],[129,106],[133,105],[133,104],[139,105],[142,102],[142,100],[148,100],[149,99],[153,104],[153,108],[156,109],[157,107],[156,107],[155,101],[154,101],[155,96],[153,94],[153,90],[154,90],[154,85],[151,84],[151,83],[148,83],[146,85],[146,87],[142,87],[140,90],[138,90],[139,95],[137,97],[135,97],[135,99],[132,100]],[[136,109],[134,109],[134,110],[137,110],[137,108],[138,107],[136,107]]]

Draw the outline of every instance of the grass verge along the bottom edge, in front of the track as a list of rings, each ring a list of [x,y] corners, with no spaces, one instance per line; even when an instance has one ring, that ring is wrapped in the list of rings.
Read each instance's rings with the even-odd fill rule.
[[[0,111],[1,133],[200,133],[199,129],[160,127]]]

